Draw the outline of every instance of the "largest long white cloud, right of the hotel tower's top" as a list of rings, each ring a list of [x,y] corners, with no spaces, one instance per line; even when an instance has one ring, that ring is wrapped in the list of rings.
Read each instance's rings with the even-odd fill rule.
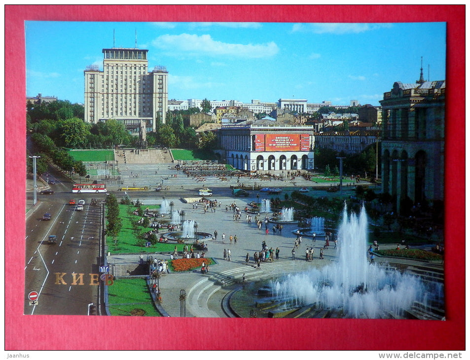
[[[231,44],[214,40],[210,35],[162,35],[153,40],[152,44],[175,54],[184,51],[194,55],[264,58],[279,52],[279,47],[273,41],[266,44]]]

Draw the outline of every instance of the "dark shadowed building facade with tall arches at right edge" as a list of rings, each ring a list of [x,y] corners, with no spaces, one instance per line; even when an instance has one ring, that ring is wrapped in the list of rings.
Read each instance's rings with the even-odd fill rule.
[[[444,197],[445,80],[395,82],[382,105],[382,190],[414,204]]]

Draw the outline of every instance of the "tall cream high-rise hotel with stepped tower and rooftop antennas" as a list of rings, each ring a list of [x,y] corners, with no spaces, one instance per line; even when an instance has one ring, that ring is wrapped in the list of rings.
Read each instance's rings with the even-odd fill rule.
[[[155,131],[157,119],[165,122],[168,109],[168,71],[157,66],[148,71],[148,50],[103,49],[103,71],[88,66],[85,71],[85,121],[108,119],[137,128],[144,120]]]

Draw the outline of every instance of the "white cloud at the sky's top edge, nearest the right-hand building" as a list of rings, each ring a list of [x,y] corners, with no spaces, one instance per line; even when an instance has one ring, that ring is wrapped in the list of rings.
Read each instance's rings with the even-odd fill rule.
[[[314,34],[359,34],[366,31],[377,30],[382,28],[390,28],[392,24],[376,24],[376,23],[315,23],[292,25],[292,33],[307,32]]]

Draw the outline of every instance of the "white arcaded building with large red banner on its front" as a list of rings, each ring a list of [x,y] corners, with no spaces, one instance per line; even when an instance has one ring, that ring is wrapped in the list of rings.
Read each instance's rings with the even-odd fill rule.
[[[227,164],[239,170],[313,170],[313,133],[309,125],[222,125],[218,144]]]

